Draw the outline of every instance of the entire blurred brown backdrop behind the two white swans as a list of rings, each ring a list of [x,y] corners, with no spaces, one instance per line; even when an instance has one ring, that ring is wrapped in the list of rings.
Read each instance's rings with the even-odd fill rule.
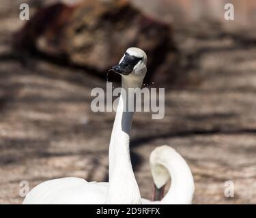
[[[19,19],[25,2],[29,22]],[[225,3],[235,20],[224,19]],[[134,116],[141,195],[152,196],[150,152],[169,144],[193,172],[193,203],[255,204],[255,10],[253,0],[1,0],[0,203],[20,204],[23,180],[107,181],[115,113],[91,112],[90,92],[139,46],[149,56],[146,85],[166,88],[165,119]]]

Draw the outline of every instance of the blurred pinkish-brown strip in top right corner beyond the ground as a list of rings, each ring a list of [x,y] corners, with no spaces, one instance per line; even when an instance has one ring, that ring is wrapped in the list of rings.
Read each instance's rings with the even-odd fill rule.
[[[253,25],[255,20],[256,2],[253,0],[134,0],[135,5],[141,6],[144,12],[160,19],[177,22],[191,22],[202,19],[212,19],[222,22],[222,25]],[[143,4],[147,3],[147,7]],[[225,22],[223,19],[224,5],[232,3],[236,10],[236,22]]]

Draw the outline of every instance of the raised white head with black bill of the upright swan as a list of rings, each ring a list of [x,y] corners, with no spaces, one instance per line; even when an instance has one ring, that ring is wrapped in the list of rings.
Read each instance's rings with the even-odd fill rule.
[[[128,48],[112,70],[122,76],[144,78],[147,72],[147,55],[140,48]]]

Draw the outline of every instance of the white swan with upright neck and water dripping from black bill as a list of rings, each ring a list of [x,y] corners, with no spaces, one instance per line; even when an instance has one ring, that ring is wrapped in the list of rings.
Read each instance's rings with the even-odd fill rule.
[[[109,183],[83,178],[58,178],[34,187],[23,204],[141,204],[139,187],[132,171],[129,134],[133,112],[128,112],[128,88],[141,87],[147,72],[147,55],[128,48],[113,71],[122,75],[122,92],[109,145]],[[130,96],[131,97],[131,96]]]

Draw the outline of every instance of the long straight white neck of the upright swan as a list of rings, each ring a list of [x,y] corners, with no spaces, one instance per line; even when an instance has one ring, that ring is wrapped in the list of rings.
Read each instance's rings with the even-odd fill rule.
[[[109,189],[106,204],[141,204],[141,195],[130,161],[130,129],[134,112],[128,112],[128,88],[141,87],[142,81],[122,77],[122,92],[109,144]],[[127,94],[127,95],[126,95]]]

